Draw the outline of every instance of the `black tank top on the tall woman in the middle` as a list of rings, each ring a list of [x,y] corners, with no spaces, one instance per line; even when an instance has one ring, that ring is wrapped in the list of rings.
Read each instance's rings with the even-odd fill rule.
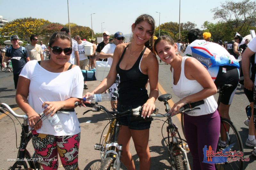
[[[120,76],[118,103],[124,106],[143,105],[148,100],[148,91],[145,87],[148,82],[148,75],[140,71],[140,60],[146,47],[131,69],[122,70],[119,65],[128,46],[129,44],[124,48],[124,52],[116,65],[116,71]]]

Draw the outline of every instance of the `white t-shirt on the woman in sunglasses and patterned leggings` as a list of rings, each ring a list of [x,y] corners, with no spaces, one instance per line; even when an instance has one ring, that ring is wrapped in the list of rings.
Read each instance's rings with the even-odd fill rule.
[[[36,111],[43,111],[43,101],[64,101],[70,97],[82,98],[84,77],[78,66],[61,73],[53,73],[41,67],[36,60],[29,61],[22,69],[20,76],[30,80],[28,103]],[[75,135],[81,131],[76,112],[69,115],[58,114],[63,130],[55,132],[50,122],[45,119],[37,133],[54,136]]]

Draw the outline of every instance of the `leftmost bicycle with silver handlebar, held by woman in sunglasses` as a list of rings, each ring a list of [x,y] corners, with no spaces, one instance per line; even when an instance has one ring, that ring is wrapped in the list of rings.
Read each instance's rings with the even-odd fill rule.
[[[21,137],[20,137],[20,147],[17,148],[17,149],[19,149],[17,161],[13,164],[13,166],[9,167],[8,170],[22,170],[22,169],[38,169],[38,170],[40,170],[40,169],[42,169],[42,166],[40,163],[41,162],[40,158],[37,157],[35,152],[31,156],[30,153],[28,152],[28,150],[26,149],[28,142],[31,140],[31,138],[33,136],[32,132],[30,132],[28,130],[28,126],[29,126],[28,125],[28,116],[16,114],[12,110],[11,107],[9,107],[6,103],[3,103],[0,101],[0,112],[4,113],[4,111],[2,109],[11,113],[16,119],[17,118],[23,119],[22,125],[20,124],[22,130],[21,130]],[[7,115],[7,116],[9,116],[9,115]],[[17,133],[16,133],[16,141],[17,141]]]

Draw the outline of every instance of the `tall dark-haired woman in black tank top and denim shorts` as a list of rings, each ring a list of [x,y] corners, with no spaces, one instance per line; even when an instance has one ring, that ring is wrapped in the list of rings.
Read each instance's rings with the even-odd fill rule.
[[[124,111],[140,105],[143,106],[142,116],[149,117],[155,109],[154,102],[158,97],[158,62],[156,56],[146,48],[153,48],[154,29],[155,21],[151,16],[139,16],[132,24],[132,42],[116,46],[108,76],[92,93],[86,93],[84,97],[103,93],[115,82],[118,73],[120,85],[117,110]],[[149,96],[145,88],[148,79]],[[118,138],[118,143],[123,145],[121,161],[128,170],[135,170],[132,154],[129,152],[129,143],[132,137],[140,159],[140,169],[148,170],[150,168],[148,147],[150,123],[131,122],[129,116],[122,119],[121,122],[122,127]]]

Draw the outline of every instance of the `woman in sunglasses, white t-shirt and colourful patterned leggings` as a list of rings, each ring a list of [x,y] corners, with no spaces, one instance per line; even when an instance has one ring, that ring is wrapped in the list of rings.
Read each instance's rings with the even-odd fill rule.
[[[84,77],[79,67],[68,63],[71,47],[67,33],[54,33],[48,47],[50,60],[28,62],[18,81],[16,102],[28,115],[30,129],[33,128],[32,143],[45,170],[58,168],[58,153],[65,169],[78,169],[81,130],[73,108],[82,98]],[[37,114],[43,111],[52,116],[60,109],[69,113],[58,113],[63,126],[60,132],[47,119],[42,122]]]

